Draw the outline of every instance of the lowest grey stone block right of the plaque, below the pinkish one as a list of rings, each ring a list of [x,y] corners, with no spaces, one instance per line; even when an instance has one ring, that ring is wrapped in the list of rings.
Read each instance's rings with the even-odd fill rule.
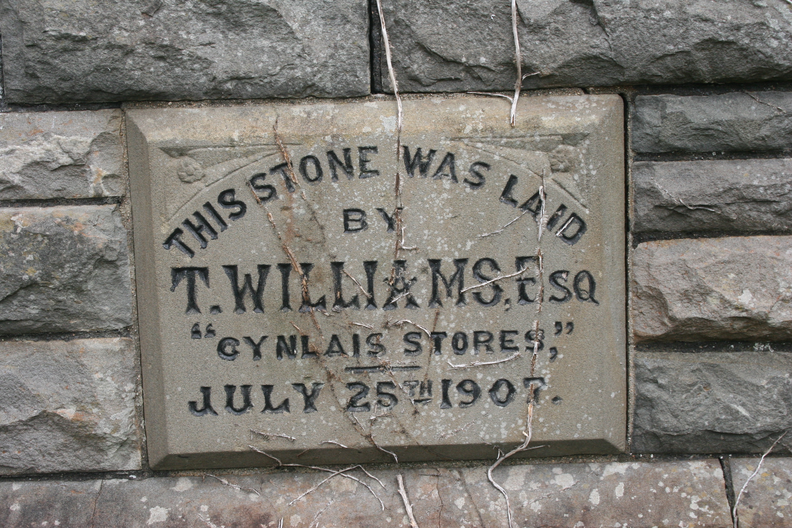
[[[766,450],[792,427],[790,359],[790,352],[767,345],[740,350],[723,344],[706,352],[638,348],[633,452]]]

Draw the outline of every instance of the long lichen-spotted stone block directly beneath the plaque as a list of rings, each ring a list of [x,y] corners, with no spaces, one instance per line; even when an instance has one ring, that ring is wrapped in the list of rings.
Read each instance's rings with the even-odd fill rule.
[[[268,528],[283,518],[284,526],[294,528],[409,526],[397,492],[396,475],[402,473],[418,526],[507,525],[505,500],[487,482],[483,467],[371,473],[386,489],[360,471],[349,474],[371,484],[385,511],[366,488],[340,476],[290,504],[328,473],[264,473],[219,475],[247,488],[242,490],[213,477],[3,482],[0,522],[7,528],[45,521],[52,526],[55,520],[60,526]],[[730,526],[717,460],[513,465],[493,474],[508,491],[515,526]],[[91,525],[83,519],[94,504]]]

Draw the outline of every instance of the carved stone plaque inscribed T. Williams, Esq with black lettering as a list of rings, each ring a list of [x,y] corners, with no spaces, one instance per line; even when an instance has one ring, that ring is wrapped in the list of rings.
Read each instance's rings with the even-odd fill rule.
[[[621,99],[395,108],[128,111],[154,468],[623,450]]]

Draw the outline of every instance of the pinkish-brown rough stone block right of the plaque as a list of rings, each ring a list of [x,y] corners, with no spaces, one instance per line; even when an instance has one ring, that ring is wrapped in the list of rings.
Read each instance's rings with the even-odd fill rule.
[[[792,237],[639,244],[633,252],[637,340],[789,340]]]

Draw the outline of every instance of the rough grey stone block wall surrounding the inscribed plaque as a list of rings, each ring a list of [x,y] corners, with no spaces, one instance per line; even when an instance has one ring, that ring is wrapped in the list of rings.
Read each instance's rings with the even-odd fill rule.
[[[632,336],[630,451],[498,469],[516,522],[732,526],[792,427],[792,6],[516,5],[524,97],[623,97]],[[0,0],[2,526],[409,526],[397,473],[421,526],[506,526],[486,462],[373,467],[384,513],[351,479],[290,505],[322,474],[147,465],[126,101],[388,98],[375,6]],[[509,2],[383,10],[402,92],[513,89]],[[741,526],[790,526],[790,447]]]

